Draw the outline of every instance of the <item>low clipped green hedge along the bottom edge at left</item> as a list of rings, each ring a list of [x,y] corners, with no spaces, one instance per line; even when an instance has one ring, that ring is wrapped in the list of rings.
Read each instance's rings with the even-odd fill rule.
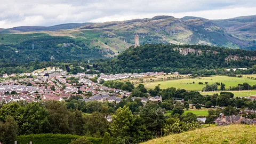
[[[36,144],[68,144],[71,141],[77,140],[81,138],[79,135],[72,135],[72,134],[30,134],[30,135],[20,135],[18,136],[18,143],[19,144],[27,144],[30,141]],[[83,137],[84,138],[84,137]],[[93,138],[87,137],[93,144],[101,144],[102,138]]]

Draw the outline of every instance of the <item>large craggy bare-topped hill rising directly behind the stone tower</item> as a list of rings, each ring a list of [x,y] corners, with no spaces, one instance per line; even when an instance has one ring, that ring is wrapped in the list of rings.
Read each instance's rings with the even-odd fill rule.
[[[109,37],[123,37],[127,43],[134,43],[138,33],[140,44],[174,43],[203,44],[244,48],[249,42],[242,41],[207,19],[177,19],[171,16],[156,16],[152,19],[113,21],[86,25],[81,29],[102,30],[111,33]]]

